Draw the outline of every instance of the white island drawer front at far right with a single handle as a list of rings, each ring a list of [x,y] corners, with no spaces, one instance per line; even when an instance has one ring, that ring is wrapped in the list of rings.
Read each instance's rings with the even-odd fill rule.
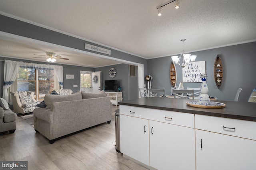
[[[256,122],[195,115],[195,128],[256,140]]]

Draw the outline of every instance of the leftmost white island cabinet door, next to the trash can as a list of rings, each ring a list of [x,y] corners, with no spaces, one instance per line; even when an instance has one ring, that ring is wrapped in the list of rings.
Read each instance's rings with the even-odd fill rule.
[[[149,166],[148,119],[120,115],[120,151]]]

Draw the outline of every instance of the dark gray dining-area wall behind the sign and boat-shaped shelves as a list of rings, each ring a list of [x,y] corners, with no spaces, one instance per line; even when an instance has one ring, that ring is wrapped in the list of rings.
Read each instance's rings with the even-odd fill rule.
[[[185,49],[186,50],[186,49]],[[191,53],[197,55],[196,61],[206,61],[207,85],[209,95],[218,97],[218,100],[234,101],[236,91],[241,91],[238,101],[247,102],[252,90],[256,88],[256,42],[220,47]],[[223,64],[223,81],[218,89],[214,81],[214,62],[217,54]],[[171,92],[170,83],[170,56],[148,60],[148,73],[153,76],[152,88],[165,88],[167,95]],[[182,81],[182,68],[176,65],[177,86]],[[200,87],[201,83],[183,83],[186,87]]]

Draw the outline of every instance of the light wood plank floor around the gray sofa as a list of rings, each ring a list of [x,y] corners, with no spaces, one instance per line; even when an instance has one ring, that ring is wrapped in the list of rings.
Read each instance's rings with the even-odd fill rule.
[[[0,133],[0,160],[26,160],[29,170],[146,170],[115,150],[115,118],[54,144],[20,116],[16,131]]]

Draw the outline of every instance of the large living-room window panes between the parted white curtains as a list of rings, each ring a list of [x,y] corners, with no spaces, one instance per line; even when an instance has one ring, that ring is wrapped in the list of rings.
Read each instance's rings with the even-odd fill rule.
[[[17,76],[17,90],[28,90],[35,93],[37,101],[43,100],[46,93],[55,89],[53,69],[35,69],[20,67]]]

